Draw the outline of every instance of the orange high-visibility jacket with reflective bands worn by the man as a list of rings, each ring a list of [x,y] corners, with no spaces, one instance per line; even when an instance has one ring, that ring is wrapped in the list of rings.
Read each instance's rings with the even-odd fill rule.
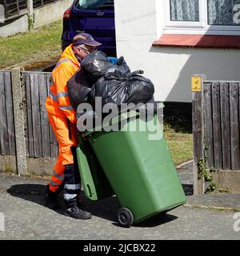
[[[66,82],[80,69],[80,63],[74,55],[72,45],[66,47],[52,72],[53,83],[46,98],[46,110],[58,117],[66,117],[76,123],[76,112],[70,104]]]

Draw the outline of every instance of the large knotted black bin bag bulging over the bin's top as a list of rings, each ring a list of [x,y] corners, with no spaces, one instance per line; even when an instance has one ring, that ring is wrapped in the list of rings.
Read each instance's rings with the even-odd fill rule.
[[[143,77],[143,71],[122,74],[115,70],[105,74],[94,84],[90,92],[90,100],[94,106],[96,97],[102,97],[102,105],[114,103],[146,103],[154,95],[154,85],[150,79]]]

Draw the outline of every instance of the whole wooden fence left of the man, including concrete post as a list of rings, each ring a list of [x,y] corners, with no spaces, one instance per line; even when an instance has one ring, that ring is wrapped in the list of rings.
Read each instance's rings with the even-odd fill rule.
[[[0,71],[0,155],[18,158],[23,146],[23,158],[58,156],[45,108],[50,79],[50,73]]]

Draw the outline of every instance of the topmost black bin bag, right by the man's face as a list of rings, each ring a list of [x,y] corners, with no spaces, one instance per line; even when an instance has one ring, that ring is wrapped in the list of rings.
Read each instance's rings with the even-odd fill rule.
[[[98,78],[106,73],[118,70],[123,74],[130,73],[130,68],[127,66],[123,57],[118,58],[116,65],[109,62],[107,56],[102,51],[94,51],[86,56],[81,62],[82,70],[88,74],[88,77],[93,82],[97,82]]]

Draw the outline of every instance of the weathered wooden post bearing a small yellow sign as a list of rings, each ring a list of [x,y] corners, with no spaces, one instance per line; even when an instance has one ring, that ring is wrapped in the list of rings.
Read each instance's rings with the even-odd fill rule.
[[[194,195],[204,194],[205,182],[198,174],[198,162],[204,161],[204,98],[203,81],[205,76],[195,74],[192,76],[192,116],[193,116],[193,151],[194,151]]]

